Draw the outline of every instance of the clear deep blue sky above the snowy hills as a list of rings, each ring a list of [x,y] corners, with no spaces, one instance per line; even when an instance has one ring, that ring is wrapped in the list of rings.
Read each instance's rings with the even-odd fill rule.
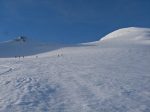
[[[150,0],[0,0],[0,41],[89,42],[131,26],[150,27]]]

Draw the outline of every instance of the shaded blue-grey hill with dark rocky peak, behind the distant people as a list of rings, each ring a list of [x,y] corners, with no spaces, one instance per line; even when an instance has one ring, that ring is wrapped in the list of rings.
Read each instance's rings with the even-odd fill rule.
[[[44,44],[18,37],[14,40],[0,43],[0,58],[31,56],[43,52],[53,51],[60,47],[63,47],[63,45],[52,43]]]

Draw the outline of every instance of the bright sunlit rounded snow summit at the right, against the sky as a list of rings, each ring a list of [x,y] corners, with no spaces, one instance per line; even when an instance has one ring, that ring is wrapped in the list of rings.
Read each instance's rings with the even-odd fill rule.
[[[144,41],[150,40],[150,29],[149,28],[138,28],[138,27],[129,27],[116,30],[112,33],[109,33],[100,41]]]

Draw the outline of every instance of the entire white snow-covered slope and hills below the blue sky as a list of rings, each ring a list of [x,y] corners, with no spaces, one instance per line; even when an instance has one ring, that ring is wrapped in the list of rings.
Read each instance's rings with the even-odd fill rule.
[[[0,112],[150,112],[149,32],[52,50],[0,43]]]

